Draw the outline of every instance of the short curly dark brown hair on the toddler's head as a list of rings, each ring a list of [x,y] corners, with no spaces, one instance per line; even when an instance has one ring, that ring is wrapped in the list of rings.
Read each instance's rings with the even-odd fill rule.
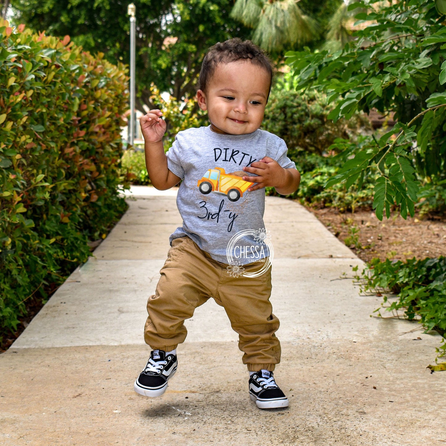
[[[252,41],[242,41],[238,37],[224,42],[218,42],[211,46],[203,59],[198,77],[198,90],[206,91],[207,84],[220,63],[230,63],[237,60],[249,60],[256,66],[260,66],[271,76],[269,90],[273,82],[274,66],[268,55]]]

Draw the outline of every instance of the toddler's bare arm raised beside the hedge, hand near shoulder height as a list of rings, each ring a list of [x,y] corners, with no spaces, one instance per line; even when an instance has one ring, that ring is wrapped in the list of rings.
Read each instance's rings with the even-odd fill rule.
[[[162,139],[166,123],[161,116],[160,110],[150,110],[147,115],[141,116],[140,125],[144,137],[145,166],[150,181],[156,189],[166,190],[177,185],[181,178],[167,167]]]

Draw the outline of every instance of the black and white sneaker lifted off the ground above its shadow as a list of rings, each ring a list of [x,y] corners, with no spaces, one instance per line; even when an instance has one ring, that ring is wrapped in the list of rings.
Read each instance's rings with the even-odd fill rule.
[[[138,376],[133,388],[144,396],[160,396],[167,389],[167,381],[177,371],[177,356],[164,350],[150,352],[150,359]]]

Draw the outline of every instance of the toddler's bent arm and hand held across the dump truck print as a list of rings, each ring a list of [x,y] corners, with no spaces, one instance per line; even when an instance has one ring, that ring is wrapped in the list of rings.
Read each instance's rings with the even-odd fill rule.
[[[297,190],[301,182],[301,174],[298,170],[284,169],[270,157],[264,157],[250,166],[245,166],[243,170],[258,175],[257,177],[243,177],[245,181],[257,183],[249,187],[249,191],[272,186],[276,188],[277,193],[288,195]]]

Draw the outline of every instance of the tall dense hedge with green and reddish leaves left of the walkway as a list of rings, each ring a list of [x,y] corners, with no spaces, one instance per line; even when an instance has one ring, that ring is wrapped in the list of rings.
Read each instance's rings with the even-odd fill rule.
[[[0,337],[126,209],[124,66],[69,41],[0,20]]]

